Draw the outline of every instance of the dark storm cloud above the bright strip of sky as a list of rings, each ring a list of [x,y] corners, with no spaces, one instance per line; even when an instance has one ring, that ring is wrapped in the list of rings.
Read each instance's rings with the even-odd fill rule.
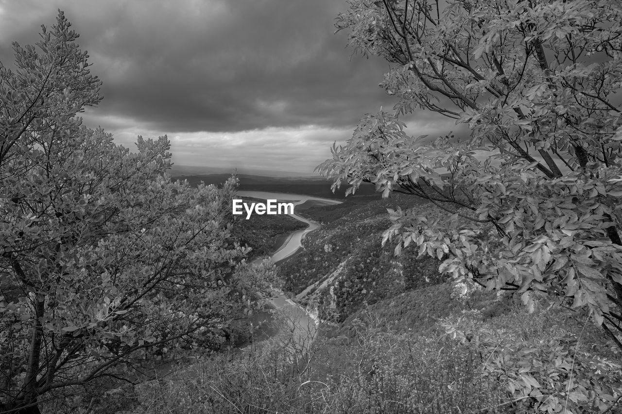
[[[350,61],[345,33],[333,34],[345,2],[46,3],[7,3],[5,13],[24,21],[2,37],[27,37],[64,9],[104,81],[100,115],[179,132],[335,127],[391,102],[378,88],[388,65]]]

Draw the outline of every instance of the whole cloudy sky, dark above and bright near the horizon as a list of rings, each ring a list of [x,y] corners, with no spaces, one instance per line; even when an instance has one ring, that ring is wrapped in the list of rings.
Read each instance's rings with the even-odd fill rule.
[[[389,64],[335,34],[345,0],[0,0],[0,62],[65,12],[103,101],[83,114],[131,149],[167,135],[177,165],[310,175],[366,113],[391,109]],[[407,133],[457,131],[421,112]]]

